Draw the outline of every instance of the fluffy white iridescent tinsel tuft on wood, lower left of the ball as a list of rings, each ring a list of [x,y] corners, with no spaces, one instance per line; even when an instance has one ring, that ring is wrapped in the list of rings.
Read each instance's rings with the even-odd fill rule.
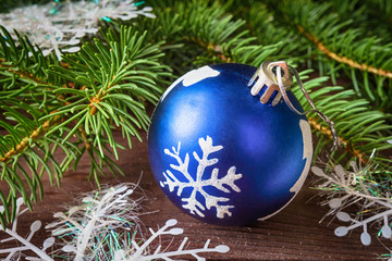
[[[68,259],[113,260],[115,251],[142,236],[138,214],[144,197],[131,198],[136,188],[135,184],[122,184],[89,192],[79,206],[54,213],[58,221],[46,228],[62,239]]]

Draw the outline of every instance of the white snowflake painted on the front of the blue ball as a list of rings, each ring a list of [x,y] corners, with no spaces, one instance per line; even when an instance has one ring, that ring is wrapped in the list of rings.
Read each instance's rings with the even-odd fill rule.
[[[160,182],[160,185],[161,187],[168,186],[171,192],[174,190],[174,188],[177,188],[177,196],[182,195],[184,188],[191,188],[191,196],[188,198],[182,198],[182,201],[184,202],[182,207],[189,210],[192,214],[197,214],[204,217],[205,214],[203,213],[203,211],[205,211],[206,209],[210,210],[212,207],[215,207],[217,209],[217,217],[223,219],[225,214],[231,216],[232,212],[230,211],[230,209],[233,209],[234,206],[220,204],[222,202],[228,202],[230,198],[210,195],[208,194],[208,191],[205,190],[205,188],[213,186],[220,191],[230,194],[231,190],[228,188],[230,187],[232,190],[240,192],[241,189],[234,184],[234,182],[240,179],[243,175],[240,173],[235,173],[236,167],[231,166],[228,173],[221,178],[219,178],[219,169],[215,167],[211,172],[210,178],[204,179],[203,177],[205,175],[206,167],[212,166],[219,161],[217,158],[208,159],[209,154],[222,150],[223,146],[212,146],[212,138],[209,136],[207,136],[206,139],[199,138],[198,144],[201,148],[203,156],[200,158],[195,151],[193,152],[195,160],[198,162],[196,178],[193,178],[188,172],[189,154],[185,154],[184,161],[180,157],[180,141],[176,149],[174,147],[172,147],[172,151],[170,151],[169,149],[164,149],[164,153],[176,160],[177,165],[170,164],[170,166],[173,170],[180,172],[183,177],[185,177],[186,182],[181,182],[170,170],[167,170],[166,172],[163,172],[166,181]],[[198,194],[205,198],[206,206],[204,206],[196,198]]]

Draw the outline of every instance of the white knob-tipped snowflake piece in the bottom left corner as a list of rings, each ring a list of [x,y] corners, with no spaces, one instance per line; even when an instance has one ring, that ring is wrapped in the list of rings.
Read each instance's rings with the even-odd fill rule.
[[[39,231],[42,226],[42,223],[39,220],[36,220],[35,222],[32,223],[30,232],[27,235],[27,237],[24,237],[17,233],[17,217],[27,211],[27,209],[23,209],[23,210],[21,209],[22,204],[23,204],[23,198],[19,198],[16,200],[16,217],[13,222],[12,228],[3,229],[2,226],[0,226],[0,237],[3,238],[2,234],[9,236],[8,238],[0,240],[0,258],[2,257],[2,254],[8,253],[8,256],[1,260],[3,261],[22,260],[23,257],[23,260],[52,261],[52,258],[47,253],[47,250],[50,249],[51,246],[53,246],[54,237],[47,238],[41,247],[35,246],[34,244],[30,243],[32,238],[34,237],[34,234],[37,231]],[[0,206],[0,212],[2,211],[3,211],[3,206]],[[11,240],[17,241],[16,247],[1,249],[3,243]],[[26,254],[23,256],[23,252],[25,251],[34,252],[36,256],[35,257],[26,256]]]

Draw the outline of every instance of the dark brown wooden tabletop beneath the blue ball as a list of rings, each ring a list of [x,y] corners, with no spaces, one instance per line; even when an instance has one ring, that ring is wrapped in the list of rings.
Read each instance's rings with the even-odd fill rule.
[[[115,133],[115,136],[121,140],[120,133]],[[125,145],[124,140],[123,144]],[[207,260],[376,260],[378,254],[387,252],[376,239],[375,231],[371,231],[371,246],[365,247],[360,244],[360,229],[340,238],[333,234],[334,228],[342,225],[339,221],[330,225],[327,222],[319,223],[328,208],[320,206],[320,198],[314,198],[318,191],[308,188],[311,175],[292,203],[265,222],[242,227],[201,223],[184,214],[164,197],[149,169],[147,142],[140,144],[135,139],[133,146],[132,150],[120,151],[119,163],[126,176],[108,174],[101,178],[101,184],[136,183],[143,172],[140,186],[148,197],[144,206],[147,211],[156,212],[143,215],[140,219],[146,227],[152,228],[164,225],[169,219],[179,220],[177,226],[184,228],[184,234],[173,236],[174,241],[171,245],[173,247],[184,236],[189,238],[189,248],[203,247],[207,239],[211,239],[210,246],[223,244],[230,247],[228,253],[205,254]],[[65,211],[64,206],[72,204],[76,196],[95,189],[95,182],[87,181],[88,172],[89,161],[85,158],[76,172],[65,173],[61,188],[50,187],[45,178],[45,199],[35,206],[33,213],[21,216],[19,233],[26,235],[30,223],[38,219],[44,224],[50,223],[53,221],[53,212]],[[7,190],[4,182],[0,182],[0,189]],[[0,233],[0,239],[2,235]],[[48,236],[49,233],[41,229],[34,241],[41,244]],[[4,246],[0,246],[0,249]],[[185,259],[193,260],[189,257]]]

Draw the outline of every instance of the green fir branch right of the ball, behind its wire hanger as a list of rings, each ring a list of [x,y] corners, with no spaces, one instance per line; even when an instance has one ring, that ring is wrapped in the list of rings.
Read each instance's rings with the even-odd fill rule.
[[[307,78],[309,72],[302,72],[302,77]],[[314,78],[305,82],[304,86],[310,92],[316,107],[332,119],[335,124],[345,152],[341,153],[339,158],[333,158],[334,161],[357,159],[360,163],[367,163],[373,149],[379,152],[391,149],[392,145],[388,140],[392,139],[390,135],[392,125],[385,123],[391,115],[371,110],[369,102],[365,99],[357,99],[353,90],[345,90],[339,86],[319,88],[327,79],[328,77]],[[298,87],[294,86],[292,90],[299,98],[304,110],[309,110],[310,105],[301,95]],[[319,139],[315,149],[315,154],[318,156],[328,144],[331,144],[332,134],[324,123],[315,116],[314,113],[310,113],[308,121],[318,134]],[[324,138],[329,141],[324,142]],[[384,164],[382,158],[375,161]]]

